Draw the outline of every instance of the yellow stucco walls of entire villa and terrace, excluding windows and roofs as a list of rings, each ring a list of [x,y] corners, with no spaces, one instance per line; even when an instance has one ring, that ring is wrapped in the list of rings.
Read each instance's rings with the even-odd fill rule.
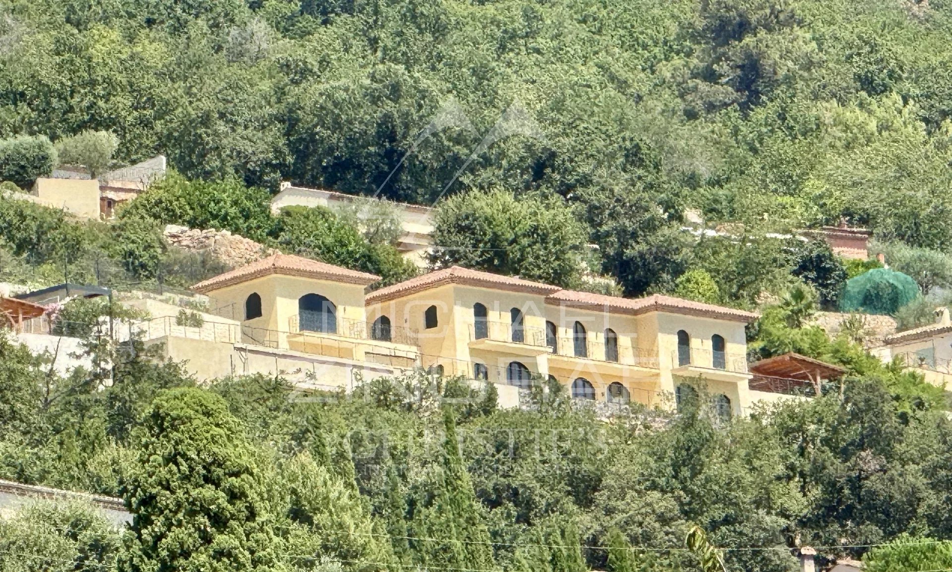
[[[251,292],[261,296],[263,316],[245,321],[245,300]],[[298,298],[307,293],[327,296],[337,306],[339,329],[342,320],[367,325],[386,315],[393,328],[394,342],[355,339],[343,331],[338,334],[293,332],[290,319],[297,315]],[[243,334],[251,327],[277,334],[268,338],[268,344],[261,341],[261,336],[251,339],[243,335],[247,346],[244,350],[228,349],[227,361],[221,355],[212,355],[224,351],[218,348],[171,345],[176,359],[207,359],[208,364],[201,365],[201,373],[208,376],[231,371],[270,372],[286,375],[299,384],[349,387],[359,377],[393,375],[414,365],[439,365],[447,376],[472,377],[474,364],[482,364],[488,370],[488,381],[510,388],[506,385],[506,366],[519,362],[535,374],[553,375],[566,389],[575,379],[584,377],[594,386],[598,401],[605,401],[608,385],[612,383],[625,385],[634,402],[665,408],[674,405],[675,387],[680,383],[701,385],[704,392],[711,395],[724,394],[738,415],[749,412],[751,404],[758,400],[775,399],[773,395],[764,397],[760,392],[750,392],[747,387],[746,337],[741,322],[670,312],[631,316],[547,305],[542,295],[457,284],[364,306],[362,286],[282,275],[220,288],[209,295],[219,310],[233,308],[232,315],[241,320]],[[474,335],[473,306],[476,303],[483,304],[487,310],[489,336],[484,339],[476,339]],[[437,310],[437,325],[433,328],[425,325],[429,306]],[[510,309],[513,307],[523,312],[524,343],[511,340]],[[557,325],[557,354],[552,354],[545,343],[546,321]],[[576,321],[585,325],[586,358],[574,356],[572,328]],[[415,343],[407,343],[407,338],[402,344],[396,343],[401,337],[398,328],[407,332]],[[611,328],[618,336],[618,362],[605,360],[605,328]],[[677,332],[682,329],[691,339],[689,371],[677,363]],[[726,369],[714,369],[710,363],[711,337],[715,334],[724,337]],[[226,364],[228,370],[223,373]],[[505,401],[517,404],[518,390],[510,388]]]

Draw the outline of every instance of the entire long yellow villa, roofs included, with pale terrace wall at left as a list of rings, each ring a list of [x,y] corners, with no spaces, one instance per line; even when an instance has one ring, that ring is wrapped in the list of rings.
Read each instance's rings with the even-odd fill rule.
[[[518,405],[518,387],[530,377],[554,379],[594,402],[670,408],[685,383],[717,396],[735,415],[762,399],[748,390],[744,328],[753,314],[671,298],[568,292],[566,299],[555,286],[463,268],[441,272],[369,297],[361,284],[328,273],[223,275],[228,280],[202,289],[209,311],[225,318],[228,331],[239,331],[234,340],[209,340],[203,332],[217,332],[215,325],[193,328],[203,344],[171,339],[188,332],[159,333],[169,357],[188,359],[204,379],[268,373],[302,386],[349,389],[423,367],[477,386],[494,383],[506,406]],[[302,321],[302,297],[315,294],[333,305],[332,327]],[[260,315],[247,312],[254,295]],[[592,302],[600,299],[605,305]]]

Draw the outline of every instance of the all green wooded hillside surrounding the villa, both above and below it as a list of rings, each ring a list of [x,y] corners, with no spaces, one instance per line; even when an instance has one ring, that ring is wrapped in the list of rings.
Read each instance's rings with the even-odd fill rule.
[[[0,0],[0,191],[76,148],[93,174],[171,167],[109,223],[0,198],[3,281],[227,269],[169,247],[176,224],[393,284],[419,270],[399,227],[270,209],[282,181],[379,190],[437,207],[434,266],[757,309],[749,361],[847,372],[729,420],[700,387],[605,422],[541,379],[522,409],[424,371],[199,383],[77,301],[54,331],[89,370],[0,335],[0,478],[134,522],[30,505],[0,518],[0,572],[792,572],[805,545],[952,570],[948,393],[868,353],[863,316],[812,322],[948,302],[949,62],[952,0]],[[890,268],[790,232],[841,221]]]

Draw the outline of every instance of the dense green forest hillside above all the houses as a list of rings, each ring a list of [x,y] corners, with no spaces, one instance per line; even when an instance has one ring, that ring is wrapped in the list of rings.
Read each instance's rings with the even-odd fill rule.
[[[658,205],[842,216],[950,247],[942,0],[4,0],[0,136],[110,130],[190,178],[428,203],[518,100],[544,138],[479,153],[506,187],[653,232]],[[624,197],[624,200],[623,200]],[[637,234],[638,229],[632,230]],[[639,237],[640,238],[640,237]]]

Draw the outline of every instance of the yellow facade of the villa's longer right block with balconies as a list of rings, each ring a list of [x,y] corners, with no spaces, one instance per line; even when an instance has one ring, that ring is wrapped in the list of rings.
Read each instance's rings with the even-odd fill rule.
[[[474,306],[486,306],[482,335],[477,335]],[[426,328],[426,309],[436,308],[437,324]],[[512,308],[522,314],[521,341],[513,341]],[[554,377],[571,391],[585,380],[596,401],[608,399],[608,387],[625,387],[633,402],[648,406],[674,404],[680,383],[703,385],[710,394],[723,394],[733,413],[751,402],[747,389],[744,322],[669,312],[628,315],[553,303],[545,295],[494,287],[446,284],[367,305],[367,319],[386,315],[391,323],[419,331],[421,361],[442,366],[446,375],[483,375],[498,384],[517,383],[510,365],[525,365],[533,375]],[[546,332],[546,323],[554,325]],[[584,357],[576,355],[574,328],[585,328]],[[617,340],[615,356],[606,355],[607,330]],[[678,331],[690,339],[690,364],[678,363]],[[548,335],[546,335],[548,334]],[[609,334],[610,335],[610,334]],[[712,336],[724,338],[723,366],[716,366]],[[550,346],[552,342],[554,347]],[[610,351],[609,351],[610,352]],[[581,383],[581,382],[580,382]]]

